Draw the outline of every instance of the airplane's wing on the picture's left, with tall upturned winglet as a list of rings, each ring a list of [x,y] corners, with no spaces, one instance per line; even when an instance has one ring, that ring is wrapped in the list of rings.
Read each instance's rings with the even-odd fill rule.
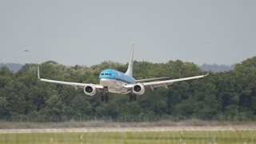
[[[76,89],[78,87],[84,88],[85,86],[94,86],[97,89],[103,89],[103,86],[97,85],[97,84],[78,83],[78,82],[63,82],[63,81],[56,81],[56,80],[51,80],[51,79],[40,78],[39,67],[38,67],[38,79],[42,82],[50,82],[50,83],[58,83],[58,84],[63,84],[63,85],[74,86]]]

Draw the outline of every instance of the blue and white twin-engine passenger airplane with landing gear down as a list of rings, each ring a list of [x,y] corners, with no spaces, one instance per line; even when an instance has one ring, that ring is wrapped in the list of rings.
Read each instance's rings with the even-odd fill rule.
[[[204,78],[209,72],[205,75],[198,75],[188,78],[178,78],[163,80],[169,77],[162,78],[146,78],[136,80],[133,78],[133,63],[134,63],[134,43],[131,44],[130,50],[130,62],[126,73],[122,73],[118,70],[106,69],[102,70],[99,74],[99,84],[92,83],[78,83],[78,82],[63,82],[57,80],[50,80],[45,78],[40,78],[39,67],[38,67],[38,79],[42,82],[51,82],[63,85],[74,86],[75,90],[82,88],[84,93],[89,96],[94,96],[98,91],[102,95],[102,102],[109,100],[109,93],[114,94],[128,94],[130,96],[130,101],[136,101],[137,95],[142,95],[145,93],[146,88],[150,88],[154,91],[156,87],[166,87],[173,84],[174,82],[187,81],[191,79]]]

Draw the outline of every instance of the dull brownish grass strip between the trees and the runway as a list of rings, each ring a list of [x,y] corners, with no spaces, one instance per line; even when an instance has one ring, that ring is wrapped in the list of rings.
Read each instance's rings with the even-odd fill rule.
[[[171,122],[105,122],[105,121],[86,121],[86,122],[6,122],[0,121],[0,129],[45,129],[61,127],[148,127],[148,126],[255,126],[255,122],[227,122],[227,121],[202,121],[198,119]]]

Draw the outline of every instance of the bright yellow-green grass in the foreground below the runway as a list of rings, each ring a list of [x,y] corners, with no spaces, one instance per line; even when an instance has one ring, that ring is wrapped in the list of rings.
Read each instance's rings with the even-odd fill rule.
[[[256,143],[256,131],[0,134],[0,143]]]

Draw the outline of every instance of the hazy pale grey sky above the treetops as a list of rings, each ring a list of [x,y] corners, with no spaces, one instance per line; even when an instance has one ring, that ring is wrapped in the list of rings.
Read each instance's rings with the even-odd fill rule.
[[[256,55],[255,0],[0,0],[0,62],[198,65]],[[24,52],[24,50],[29,50]]]

